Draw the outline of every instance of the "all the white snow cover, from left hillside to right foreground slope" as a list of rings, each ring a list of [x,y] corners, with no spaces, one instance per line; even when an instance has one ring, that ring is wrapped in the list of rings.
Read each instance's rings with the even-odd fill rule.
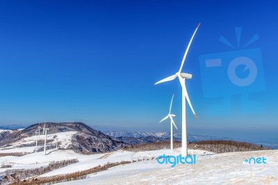
[[[74,131],[50,134],[47,139],[58,136],[61,148],[66,148],[71,142]],[[33,147],[18,147],[32,143],[35,136],[24,138],[12,146],[0,148],[1,153],[33,152]],[[49,145],[55,144],[55,141]],[[202,150],[188,150],[188,153],[197,155],[195,164],[159,164],[156,157],[163,154],[178,156],[181,148],[171,150],[154,150],[145,152],[126,152],[118,150],[105,154],[82,155],[72,150],[47,150],[33,152],[24,156],[1,156],[0,163],[11,164],[12,168],[0,168],[0,172],[7,169],[39,168],[47,166],[51,161],[78,159],[78,163],[47,172],[40,177],[63,175],[104,165],[108,162],[131,161],[151,158],[154,160],[140,161],[126,165],[115,166],[108,170],[88,175],[86,179],[65,182],[60,184],[278,184],[278,150],[263,150],[254,152],[230,152],[213,154]],[[264,157],[266,163],[247,163],[250,157]]]

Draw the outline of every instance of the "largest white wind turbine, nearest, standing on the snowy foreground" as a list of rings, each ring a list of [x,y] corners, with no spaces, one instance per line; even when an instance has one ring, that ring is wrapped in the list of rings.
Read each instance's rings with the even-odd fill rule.
[[[192,78],[192,74],[188,74],[188,73],[183,73],[181,72],[182,70],[182,67],[183,67],[183,64],[184,64],[184,61],[186,61],[186,55],[188,54],[188,50],[190,48],[190,45],[191,45],[191,42],[195,36],[195,33],[197,31],[197,29],[199,28],[199,25],[200,23],[198,24],[197,28],[195,29],[191,39],[190,39],[190,42],[186,48],[186,53],[184,54],[183,56],[183,60],[181,61],[181,67],[179,67],[179,71],[176,72],[176,74],[170,76],[170,77],[167,77],[165,79],[162,79],[161,81],[158,81],[156,82],[154,85],[158,84],[158,83],[163,83],[165,81],[172,81],[174,79],[176,79],[177,77],[179,78],[179,83],[181,83],[181,89],[182,89],[182,112],[181,112],[181,115],[182,115],[182,121],[181,121],[181,130],[182,130],[182,136],[181,136],[181,148],[182,148],[182,151],[181,151],[181,154],[182,156],[187,156],[187,136],[186,136],[186,99],[188,101],[188,104],[191,108],[191,111],[193,112],[195,118],[197,119],[197,115],[192,107],[192,104],[190,102],[190,99],[188,97],[188,93],[187,93],[187,90],[186,90],[186,79],[191,79]]]

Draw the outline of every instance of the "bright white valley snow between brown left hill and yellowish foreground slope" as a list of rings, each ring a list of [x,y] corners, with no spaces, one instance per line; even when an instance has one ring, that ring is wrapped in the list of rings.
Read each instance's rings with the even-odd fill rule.
[[[18,152],[17,149],[6,150],[6,152]],[[29,147],[24,147],[25,151],[29,150]],[[108,152],[104,154],[91,154],[83,155],[76,154],[72,150],[47,150],[47,155],[44,155],[43,152],[35,152],[32,154],[26,154],[24,156],[2,156],[0,157],[0,163],[12,164],[10,169],[27,169],[27,168],[39,168],[41,166],[47,166],[51,161],[62,161],[67,159],[78,159],[78,163],[74,163],[70,166],[65,166],[58,170],[53,170],[47,172],[40,177],[50,177],[54,175],[63,175],[72,172],[78,172],[81,170],[87,170],[89,168],[94,168],[99,165],[104,165],[108,162],[115,163],[121,161],[131,161],[141,159],[142,156],[160,156],[161,154],[167,155],[179,155],[181,149],[171,150],[154,150],[154,151],[145,151],[145,152],[126,152],[118,150],[115,152]],[[1,150],[2,152],[5,150]],[[203,154],[206,151],[202,150],[189,150],[191,154]],[[206,152],[209,154],[209,152]],[[139,157],[139,158],[138,158]],[[166,166],[161,166],[156,164],[152,168],[164,168]],[[5,171],[6,168],[0,168],[0,173]]]

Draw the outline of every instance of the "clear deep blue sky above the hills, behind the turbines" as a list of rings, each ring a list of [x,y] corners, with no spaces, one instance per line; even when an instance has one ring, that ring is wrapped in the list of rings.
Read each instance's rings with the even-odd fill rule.
[[[177,72],[201,22],[183,67],[193,74],[186,85],[199,116],[195,120],[187,107],[188,132],[278,141],[277,9],[278,3],[267,1],[1,1],[0,124],[82,121],[168,131],[170,123],[158,121],[175,93],[173,113],[181,129],[178,81],[154,83]],[[236,46],[235,27],[242,33],[240,47],[233,49],[219,38]],[[247,95],[260,102],[260,111],[248,104],[243,110],[244,90],[205,97],[215,95],[213,86],[227,89],[227,77],[204,79],[199,56],[238,51],[254,34],[259,40],[245,49],[261,49],[265,88]],[[204,83],[212,91],[204,92]],[[231,106],[210,113],[224,96]]]

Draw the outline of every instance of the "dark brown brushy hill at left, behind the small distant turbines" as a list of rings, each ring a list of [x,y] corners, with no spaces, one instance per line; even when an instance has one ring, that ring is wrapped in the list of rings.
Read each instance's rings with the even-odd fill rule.
[[[40,124],[41,131],[43,131],[44,124]],[[73,131],[74,134],[70,136],[71,143],[69,147],[75,152],[82,154],[92,154],[97,152],[108,152],[117,150],[118,147],[123,147],[124,143],[121,140],[115,140],[101,131],[97,131],[88,127],[83,122],[47,122],[45,128],[48,128],[47,134],[59,134]],[[15,131],[2,131],[0,133],[0,147],[13,145],[13,147],[27,147],[35,145],[35,131],[38,129],[38,124],[33,124],[26,129]],[[23,142],[22,140],[28,140]],[[42,141],[40,141],[42,142]],[[60,142],[58,140],[58,142]],[[16,143],[21,143],[17,145]]]

